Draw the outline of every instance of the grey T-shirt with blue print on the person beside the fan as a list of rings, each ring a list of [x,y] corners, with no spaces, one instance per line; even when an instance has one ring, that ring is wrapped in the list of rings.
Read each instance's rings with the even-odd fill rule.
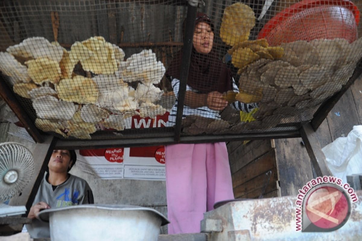
[[[69,175],[68,180],[56,186],[54,191],[47,181],[47,175],[44,175],[33,206],[38,202],[45,202],[51,208],[94,203],[93,193],[88,183],[80,177]],[[33,219],[31,224],[26,225],[26,229],[32,238],[50,237],[49,223],[41,220]]]

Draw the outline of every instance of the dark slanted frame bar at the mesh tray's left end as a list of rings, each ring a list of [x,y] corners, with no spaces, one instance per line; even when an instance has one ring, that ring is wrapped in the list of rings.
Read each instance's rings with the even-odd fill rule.
[[[24,126],[26,131],[33,137],[36,142],[42,143],[44,141],[43,136],[38,132],[38,129],[35,127],[33,121],[26,114],[24,109],[20,106],[17,99],[13,95],[13,91],[9,89],[8,85],[5,83],[5,79],[0,74],[0,95],[3,97],[5,102],[9,105],[12,111],[20,120],[21,124]]]

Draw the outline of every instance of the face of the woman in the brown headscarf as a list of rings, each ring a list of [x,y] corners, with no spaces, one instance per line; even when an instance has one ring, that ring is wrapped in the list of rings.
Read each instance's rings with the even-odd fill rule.
[[[198,53],[207,54],[212,49],[212,43],[214,42],[214,32],[211,30],[211,26],[206,22],[199,22],[195,26],[193,37],[194,48]]]

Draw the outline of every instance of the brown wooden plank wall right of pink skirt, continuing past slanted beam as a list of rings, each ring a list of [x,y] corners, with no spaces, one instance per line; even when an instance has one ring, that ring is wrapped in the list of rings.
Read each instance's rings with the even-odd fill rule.
[[[362,124],[362,77],[342,96],[316,131],[324,147],[347,136],[354,125]],[[227,144],[235,198],[257,198],[265,172],[273,175],[264,197],[296,195],[313,178],[313,170],[302,138],[257,140]]]

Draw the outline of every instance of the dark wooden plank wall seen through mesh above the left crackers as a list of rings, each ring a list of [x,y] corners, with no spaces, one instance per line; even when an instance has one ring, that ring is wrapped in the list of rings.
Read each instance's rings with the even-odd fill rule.
[[[179,46],[131,45],[182,42],[180,26],[186,16],[186,7],[112,0],[7,0],[0,4],[0,51],[33,36],[54,41],[52,12],[59,15],[58,42],[67,48],[75,41],[103,36],[108,42],[126,44],[128,47],[122,47],[126,57],[152,49],[167,66]]]

